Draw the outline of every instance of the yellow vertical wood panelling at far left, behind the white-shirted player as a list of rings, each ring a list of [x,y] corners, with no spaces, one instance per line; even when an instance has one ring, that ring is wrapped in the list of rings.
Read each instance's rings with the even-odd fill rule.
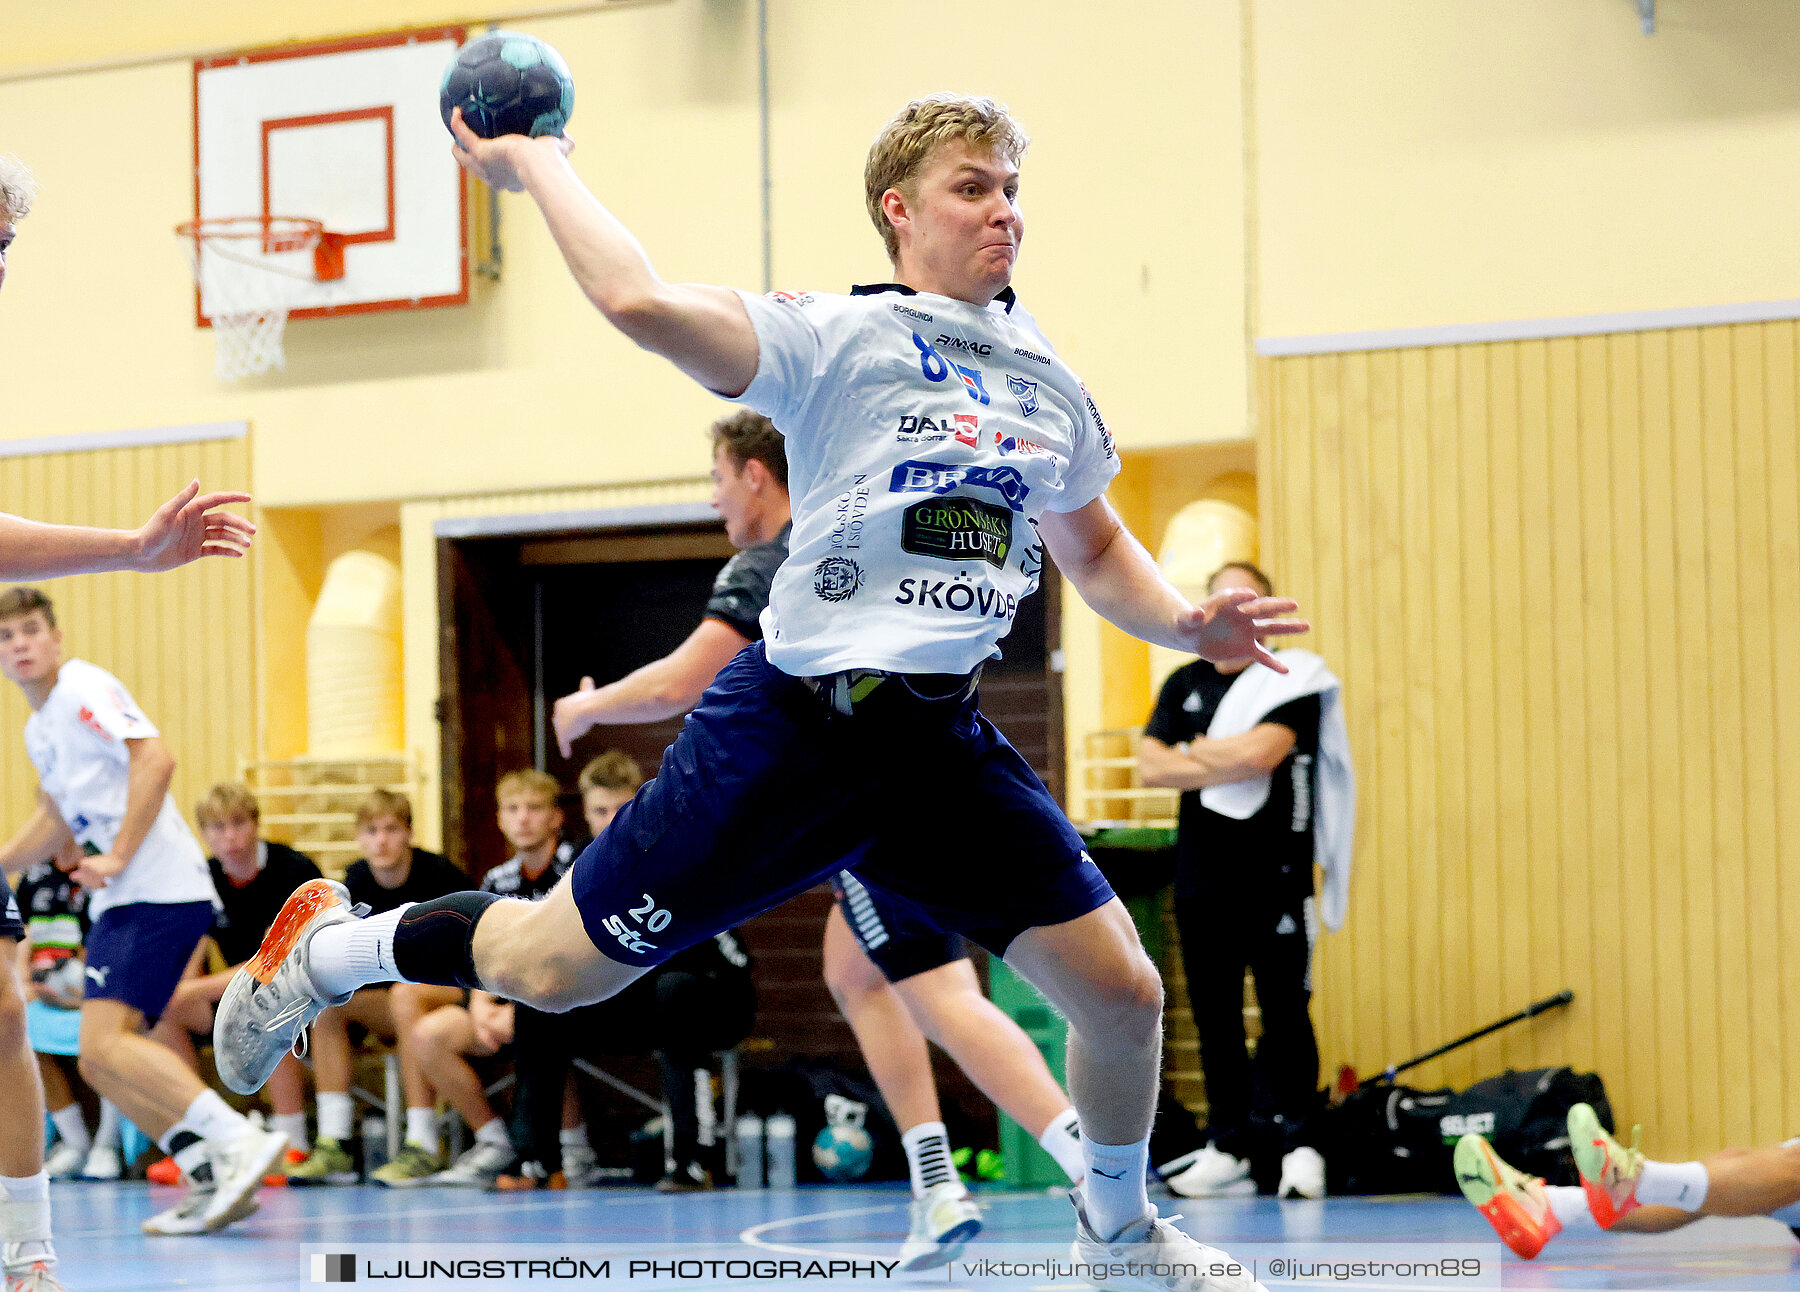
[[[245,439],[41,453],[0,459],[0,498],[11,511],[86,525],[135,527],[196,475],[207,488],[241,489]],[[175,801],[184,815],[214,781],[236,776],[256,749],[256,560],[205,560],[169,574],[92,574],[49,579],[65,657],[115,673],[175,754]],[[25,758],[31,707],[0,686],[0,830],[36,804],[38,774]]]

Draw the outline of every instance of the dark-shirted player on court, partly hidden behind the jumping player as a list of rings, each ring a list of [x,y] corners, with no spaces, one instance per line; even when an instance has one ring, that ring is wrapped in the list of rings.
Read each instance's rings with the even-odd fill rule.
[[[742,551],[718,572],[700,626],[671,655],[599,689],[581,678],[583,689],[558,700],[553,720],[563,756],[598,723],[686,713],[718,669],[761,637],[769,587],[788,554],[792,504],[781,432],[758,412],[745,408],[713,425],[713,507]],[[846,534],[851,524],[846,515]],[[913,1180],[900,1261],[905,1269],[940,1265],[979,1233],[981,1209],[950,1164],[925,1036],[1037,1135],[1071,1180],[1082,1175],[1075,1110],[1037,1045],[981,995],[961,939],[848,871],[832,887],[837,903],[826,918],[824,981],[900,1126]],[[844,920],[846,902],[857,911],[853,921]]]

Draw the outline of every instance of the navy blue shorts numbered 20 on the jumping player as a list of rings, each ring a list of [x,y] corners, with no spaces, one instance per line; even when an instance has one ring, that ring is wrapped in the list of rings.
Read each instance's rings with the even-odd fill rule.
[[[571,884],[594,947],[650,966],[851,857],[859,876],[995,956],[1112,898],[972,698],[920,700],[886,682],[839,716],[761,642],[720,671]]]

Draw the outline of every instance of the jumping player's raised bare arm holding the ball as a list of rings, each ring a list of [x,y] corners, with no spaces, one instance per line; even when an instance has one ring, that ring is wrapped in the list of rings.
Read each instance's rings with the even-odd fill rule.
[[[455,158],[495,189],[529,193],[587,299],[607,322],[709,390],[736,398],[756,376],[756,329],[729,288],[664,283],[643,245],[569,166],[567,137],[481,139],[450,113]]]

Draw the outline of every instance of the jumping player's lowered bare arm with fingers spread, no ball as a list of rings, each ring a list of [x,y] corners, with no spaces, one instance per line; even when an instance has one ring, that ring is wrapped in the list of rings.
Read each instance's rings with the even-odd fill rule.
[[[1247,588],[1190,605],[1103,497],[1078,511],[1046,511],[1037,529],[1082,601],[1141,641],[1210,660],[1249,657],[1285,673],[1264,641],[1312,628],[1278,617],[1300,608],[1291,597],[1258,597]]]

